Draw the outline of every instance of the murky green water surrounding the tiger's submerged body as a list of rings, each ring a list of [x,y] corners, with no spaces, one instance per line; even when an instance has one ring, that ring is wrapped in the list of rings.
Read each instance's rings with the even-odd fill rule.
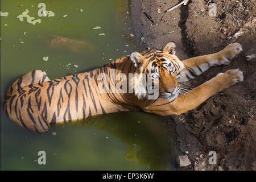
[[[55,16],[39,17],[40,2]],[[26,18],[20,22],[16,16],[26,9],[42,22],[32,25]],[[1,0],[1,11],[9,13],[1,16],[1,98],[11,82],[34,69],[42,69],[54,79],[144,50],[129,35],[132,24],[126,13],[129,2],[125,0]],[[97,26],[101,28],[93,29]],[[100,36],[102,33],[105,35]],[[75,42],[51,47],[52,36]],[[85,46],[81,49],[76,41]],[[47,61],[42,59],[44,56]],[[48,133],[37,134],[11,122],[1,110],[1,169],[175,169],[174,127],[168,118],[124,112],[100,115],[75,125],[52,126]],[[46,152],[46,165],[38,164],[38,151]]]

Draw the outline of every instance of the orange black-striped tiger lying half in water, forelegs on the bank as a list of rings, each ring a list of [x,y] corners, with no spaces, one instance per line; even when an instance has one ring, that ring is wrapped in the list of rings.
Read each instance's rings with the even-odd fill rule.
[[[239,69],[218,73],[212,79],[184,90],[185,82],[201,75],[210,67],[227,65],[242,51],[240,43],[232,43],[219,52],[179,60],[176,44],[169,42],[163,49],[132,52],[93,71],[77,73],[50,80],[46,72],[35,70],[19,77],[7,88],[3,110],[18,125],[38,133],[49,131],[57,123],[72,123],[93,115],[120,111],[142,110],[157,115],[179,115],[208,100],[221,90],[243,81]],[[135,74],[133,93],[100,92],[100,74],[111,76]],[[141,75],[146,74],[152,85],[158,86],[158,97],[148,99],[149,92],[141,86]],[[118,80],[109,79],[116,86]],[[157,80],[157,81],[156,81]],[[130,86],[127,83],[127,86]],[[106,88],[110,91],[110,88]],[[146,94],[143,92],[146,90]]]

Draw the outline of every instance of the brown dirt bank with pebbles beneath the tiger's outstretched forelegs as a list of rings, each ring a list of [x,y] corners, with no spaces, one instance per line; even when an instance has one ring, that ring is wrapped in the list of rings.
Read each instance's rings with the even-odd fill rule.
[[[174,41],[181,60],[214,53],[229,43],[239,42],[243,51],[230,65],[210,68],[189,84],[198,86],[228,69],[240,68],[245,77],[243,82],[210,97],[196,109],[171,116],[177,125],[180,150],[189,152],[195,170],[256,170],[256,67],[255,58],[246,60],[246,55],[256,53],[256,2],[194,0],[164,13],[179,2],[132,0],[133,33],[138,41],[158,49]],[[212,2],[217,5],[215,17],[209,16]],[[239,31],[241,36],[230,38]],[[208,163],[208,152],[212,150],[217,152],[217,165]]]

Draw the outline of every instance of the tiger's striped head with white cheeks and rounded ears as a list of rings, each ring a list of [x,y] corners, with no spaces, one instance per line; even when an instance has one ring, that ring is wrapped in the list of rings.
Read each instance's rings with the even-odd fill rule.
[[[135,95],[139,98],[145,98],[148,95],[148,88],[141,84],[141,75],[150,77],[153,86],[158,86],[159,97],[165,100],[174,101],[180,93],[178,78],[183,63],[175,56],[175,43],[167,43],[162,51],[151,50],[144,53],[131,53],[137,69],[137,81],[133,84]]]

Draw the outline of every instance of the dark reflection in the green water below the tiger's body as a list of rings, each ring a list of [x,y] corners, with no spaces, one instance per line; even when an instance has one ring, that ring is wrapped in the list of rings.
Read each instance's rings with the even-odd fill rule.
[[[58,125],[105,130],[119,138],[122,143],[128,144],[124,157],[126,160],[134,160],[150,170],[171,169],[171,163],[175,160],[175,126],[173,122],[167,122],[165,117],[140,112],[122,112]]]

